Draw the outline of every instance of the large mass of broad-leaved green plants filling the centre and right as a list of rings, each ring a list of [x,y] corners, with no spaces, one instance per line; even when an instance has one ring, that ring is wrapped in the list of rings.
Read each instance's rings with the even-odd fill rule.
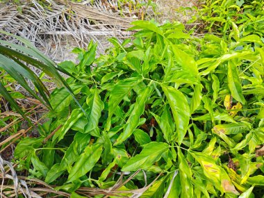
[[[263,195],[263,43],[193,38],[176,22],[131,30],[99,58],[90,42],[79,64],[59,64],[85,113],[54,90],[40,137],[15,149],[19,169],[72,197]]]

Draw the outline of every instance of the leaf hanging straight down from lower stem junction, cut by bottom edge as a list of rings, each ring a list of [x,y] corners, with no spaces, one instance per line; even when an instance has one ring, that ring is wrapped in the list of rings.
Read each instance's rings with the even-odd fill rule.
[[[179,175],[181,180],[181,197],[193,197],[192,171],[178,147]]]

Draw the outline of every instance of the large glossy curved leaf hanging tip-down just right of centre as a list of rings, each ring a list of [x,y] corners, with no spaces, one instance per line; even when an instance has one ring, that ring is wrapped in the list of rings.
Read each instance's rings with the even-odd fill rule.
[[[163,91],[169,101],[174,121],[176,123],[177,142],[181,145],[187,132],[190,119],[190,108],[184,94],[172,87],[164,87]]]

